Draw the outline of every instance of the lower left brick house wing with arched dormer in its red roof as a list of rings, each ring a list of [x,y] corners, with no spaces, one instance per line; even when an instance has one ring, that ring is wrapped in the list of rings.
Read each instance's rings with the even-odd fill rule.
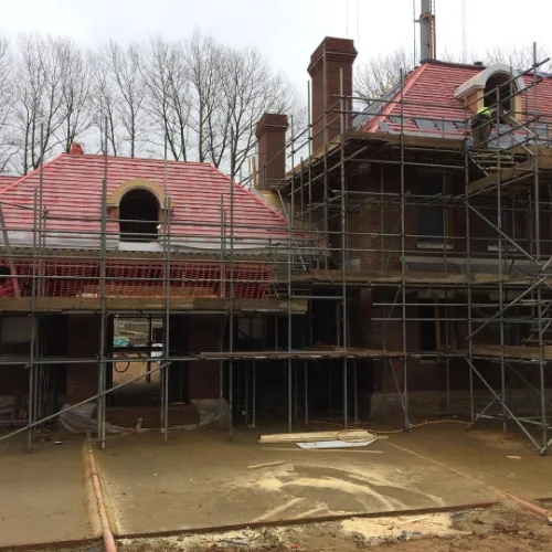
[[[287,221],[210,164],[74,148],[8,182],[0,191],[7,231],[0,395],[28,394],[33,354],[42,359],[50,402],[74,404],[94,395],[100,343],[109,388],[112,364],[136,353],[114,348],[115,319],[152,318],[162,326],[169,307],[168,355],[188,357],[172,361],[170,400],[219,397],[219,362],[190,358],[224,347],[227,301],[235,312],[252,314],[259,305],[265,314],[283,310],[268,291],[274,264],[287,255]],[[230,253],[224,256],[231,248],[233,264]],[[151,341],[164,337],[148,339],[139,349],[142,358],[155,351]]]

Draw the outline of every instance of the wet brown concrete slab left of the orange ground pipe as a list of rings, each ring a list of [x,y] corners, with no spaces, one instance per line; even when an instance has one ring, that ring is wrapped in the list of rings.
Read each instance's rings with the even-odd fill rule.
[[[0,546],[79,541],[98,537],[91,524],[82,437],[0,443]]]

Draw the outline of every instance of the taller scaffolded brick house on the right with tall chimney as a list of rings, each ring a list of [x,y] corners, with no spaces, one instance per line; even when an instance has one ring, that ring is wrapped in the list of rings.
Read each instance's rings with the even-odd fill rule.
[[[407,394],[414,415],[466,413],[470,401],[482,410],[493,399],[489,385],[499,390],[497,405],[523,386],[540,400],[550,336],[535,280],[545,279],[539,259],[552,255],[552,75],[423,60],[354,110],[355,55],[344,39],[326,38],[315,50],[311,149],[301,163],[296,153],[293,172],[280,162],[273,188],[296,224],[308,219],[326,241],[333,285],[346,265],[349,344],[404,352],[371,362],[369,412],[403,410]],[[474,148],[471,119],[497,105],[487,149]],[[259,167],[285,147],[284,128],[270,144],[273,151],[259,146]],[[544,308],[550,293],[541,291]],[[540,341],[535,320],[545,326]],[[517,365],[516,376],[501,375],[505,363]]]

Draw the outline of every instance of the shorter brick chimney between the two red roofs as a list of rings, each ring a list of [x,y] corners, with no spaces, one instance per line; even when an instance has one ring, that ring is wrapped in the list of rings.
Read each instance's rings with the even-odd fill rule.
[[[265,113],[257,123],[258,177],[256,188],[268,190],[286,176],[287,115]]]

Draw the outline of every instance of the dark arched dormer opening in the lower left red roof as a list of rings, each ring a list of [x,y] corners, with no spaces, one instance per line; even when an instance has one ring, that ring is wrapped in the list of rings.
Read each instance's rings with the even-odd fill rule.
[[[119,203],[120,241],[152,242],[157,240],[159,201],[144,188],[131,189]]]

